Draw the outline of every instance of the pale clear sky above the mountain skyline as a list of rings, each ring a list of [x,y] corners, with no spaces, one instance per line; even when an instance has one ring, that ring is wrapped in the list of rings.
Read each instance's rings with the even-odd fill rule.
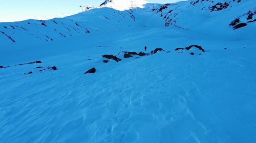
[[[147,2],[159,4],[178,1],[181,0],[147,0]],[[104,0],[90,1],[94,7],[103,2]],[[0,3],[0,22],[26,19],[44,20],[69,16],[81,12],[80,5],[89,5],[89,0],[2,0]]]

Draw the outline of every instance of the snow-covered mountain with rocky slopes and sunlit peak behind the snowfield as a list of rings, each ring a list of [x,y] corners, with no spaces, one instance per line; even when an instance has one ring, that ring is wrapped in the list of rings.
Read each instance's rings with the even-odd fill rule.
[[[175,26],[185,30],[208,31],[218,34],[239,35],[255,27],[255,4],[252,1],[187,1],[176,4],[146,4],[145,8],[118,11],[108,9],[111,5],[118,7],[142,6],[144,1],[105,1],[100,9],[86,13],[55,18],[51,20],[26,20],[22,22],[0,23],[2,44],[24,43],[30,41],[53,41],[90,32],[118,31],[133,26]],[[136,17],[140,17],[137,18]],[[141,18],[143,17],[143,18]],[[202,28],[203,26],[203,28]],[[233,29],[242,30],[232,32]],[[215,28],[215,31],[212,31]],[[224,32],[226,31],[226,32]],[[252,33],[250,33],[252,34]],[[26,36],[25,36],[26,35]],[[9,40],[5,40],[9,39]]]

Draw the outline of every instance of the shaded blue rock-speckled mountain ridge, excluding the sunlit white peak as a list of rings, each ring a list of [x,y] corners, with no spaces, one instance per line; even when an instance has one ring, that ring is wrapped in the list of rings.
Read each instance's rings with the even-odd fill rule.
[[[140,24],[142,26],[143,25],[150,26],[151,25],[150,23],[153,23],[153,22],[148,21],[147,19],[145,19],[145,21],[139,21],[139,22],[136,21],[136,15],[141,15],[142,13],[148,19],[154,19],[159,21],[158,22],[159,24],[157,25],[161,25],[161,23],[164,20],[165,22],[162,23],[163,26],[175,26],[179,28],[184,28],[186,30],[190,30],[191,28],[200,27],[200,26],[197,26],[200,23],[202,24],[202,26],[205,25],[205,23],[208,23],[208,25],[211,24],[212,22],[205,21],[206,19],[208,19],[208,21],[211,21],[209,16],[212,16],[213,18],[215,18],[215,17],[218,17],[218,15],[225,15],[227,11],[231,10],[233,13],[232,14],[233,16],[231,15],[225,16],[225,18],[230,17],[229,18],[230,20],[226,21],[225,19],[223,19],[224,21],[226,21],[226,23],[223,24],[223,26],[226,25],[226,26],[232,27],[233,29],[237,29],[240,26],[254,25],[253,22],[255,21],[255,18],[253,17],[253,15],[256,13],[256,10],[255,8],[251,7],[253,5],[250,5],[250,3],[244,2],[244,1],[225,0],[223,4],[225,3],[228,4],[228,5],[225,5],[225,7],[221,6],[222,3],[220,3],[220,1],[187,1],[187,2],[179,2],[176,4],[163,4],[163,5],[146,4],[145,8],[143,9],[136,8],[134,10],[125,10],[123,12],[111,10],[111,9],[108,9],[108,10],[104,9],[106,11],[104,12],[105,13],[104,14],[101,8],[101,9],[93,9],[88,12],[80,13],[73,16],[68,16],[66,18],[56,18],[52,20],[36,20],[36,21],[27,20],[22,22],[0,23],[0,32],[1,32],[0,39],[8,38],[9,39],[9,41],[7,40],[8,43],[9,42],[15,43],[20,41],[19,38],[23,38],[24,37],[23,35],[25,34],[25,35],[28,35],[27,36],[28,39],[32,38],[39,41],[53,41],[56,38],[59,39],[61,37],[62,38],[72,37],[74,35],[79,35],[83,33],[89,34],[90,32],[106,31],[107,29],[118,30],[120,28],[130,28],[131,26],[136,24]],[[217,5],[220,7],[219,9],[217,8]],[[250,6],[250,7],[247,8],[247,6]],[[243,9],[243,12],[242,12],[243,14],[239,15],[240,12],[237,12],[236,9],[239,7]],[[225,12],[219,13],[221,11],[225,11]],[[92,18],[95,12],[99,13],[99,16],[95,17],[96,19]],[[190,14],[187,14],[188,12]],[[249,12],[251,13],[247,14],[245,18],[240,18],[240,21],[241,21],[240,23],[237,22],[234,25],[231,24],[232,21],[236,20],[237,17],[246,15],[246,13],[249,13]],[[202,18],[198,16],[198,18],[194,20],[193,15],[191,16],[191,14],[202,15]],[[248,16],[250,16],[251,18],[247,20],[246,18],[248,18]],[[206,17],[209,17],[209,18],[206,18]],[[219,19],[215,19],[215,20],[217,23],[219,22],[219,24],[222,24]],[[105,23],[105,24],[94,26],[94,23],[96,21],[102,21],[102,23]],[[127,24],[120,24],[120,23],[127,23]],[[246,23],[246,24],[241,24],[241,23]],[[212,23],[212,26],[215,26],[214,24],[216,23],[215,22]],[[237,24],[239,25],[236,26]],[[112,28],[106,28],[106,27],[112,27]],[[44,33],[41,33],[42,31],[40,31],[39,28],[44,28],[46,31]],[[37,32],[33,33],[33,31],[37,31]],[[53,31],[55,34],[52,35],[53,33],[51,31]],[[51,34],[49,34],[49,32]]]

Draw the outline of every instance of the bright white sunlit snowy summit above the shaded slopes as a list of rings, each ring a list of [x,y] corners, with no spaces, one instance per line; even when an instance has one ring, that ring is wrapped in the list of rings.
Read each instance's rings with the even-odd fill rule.
[[[100,7],[109,7],[119,11],[129,10],[133,8],[143,8],[146,1],[144,0],[106,0]]]

